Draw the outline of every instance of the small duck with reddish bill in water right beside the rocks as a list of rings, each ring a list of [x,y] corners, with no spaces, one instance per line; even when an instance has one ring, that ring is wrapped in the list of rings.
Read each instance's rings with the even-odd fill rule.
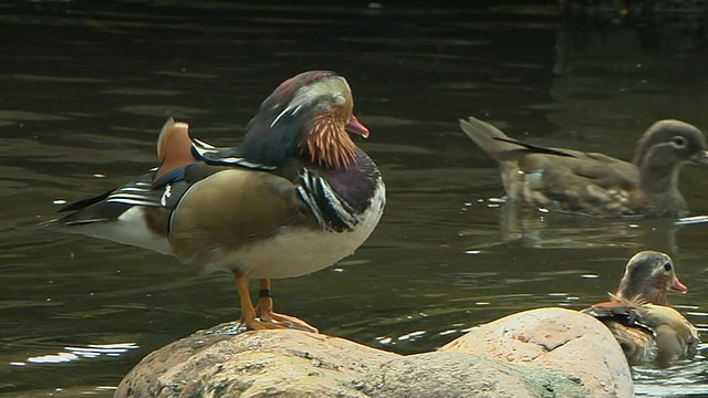
[[[643,251],[627,262],[624,276],[608,302],[584,313],[602,321],[615,336],[631,365],[691,357],[699,343],[698,331],[668,304],[669,290],[686,293],[676,277],[671,259]]]

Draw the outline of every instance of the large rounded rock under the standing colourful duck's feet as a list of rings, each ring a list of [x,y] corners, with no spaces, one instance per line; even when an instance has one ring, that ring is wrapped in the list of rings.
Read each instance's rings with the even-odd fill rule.
[[[300,331],[218,325],[145,357],[114,397],[366,397],[352,380],[399,357]]]

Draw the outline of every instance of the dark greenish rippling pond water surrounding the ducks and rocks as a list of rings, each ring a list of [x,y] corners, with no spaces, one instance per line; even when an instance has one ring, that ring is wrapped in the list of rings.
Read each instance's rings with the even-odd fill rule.
[[[152,167],[167,114],[235,144],[272,88],[311,69],[350,81],[388,206],[354,256],[275,281],[280,311],[419,353],[517,311],[604,301],[626,259],[655,249],[674,255],[690,290],[674,303],[706,332],[708,224],[503,203],[493,163],[457,126],[475,115],[514,137],[624,158],[658,118],[708,129],[705,27],[691,10],[632,24],[612,9],[563,18],[543,2],[351,3],[0,6],[0,396],[110,396],[147,353],[238,316],[227,275],[35,224],[54,201]],[[708,213],[707,181],[683,172],[696,214]],[[638,368],[637,391],[708,396],[707,370],[702,354]]]

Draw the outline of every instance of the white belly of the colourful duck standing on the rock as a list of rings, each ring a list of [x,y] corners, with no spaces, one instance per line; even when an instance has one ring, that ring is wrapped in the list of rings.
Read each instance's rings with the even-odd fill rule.
[[[374,231],[385,205],[383,184],[361,222],[350,232],[283,227],[280,233],[238,251],[211,253],[205,271],[233,270],[254,279],[281,279],[309,274],[330,266],[364,243]]]

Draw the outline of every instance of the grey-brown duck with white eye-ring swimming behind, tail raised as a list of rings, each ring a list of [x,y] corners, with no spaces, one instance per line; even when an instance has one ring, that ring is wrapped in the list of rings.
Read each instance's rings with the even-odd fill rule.
[[[511,200],[594,217],[683,217],[678,191],[686,163],[708,166],[702,133],[684,122],[659,121],[639,139],[634,160],[603,154],[544,148],[509,138],[469,117],[462,132],[499,163]]]

